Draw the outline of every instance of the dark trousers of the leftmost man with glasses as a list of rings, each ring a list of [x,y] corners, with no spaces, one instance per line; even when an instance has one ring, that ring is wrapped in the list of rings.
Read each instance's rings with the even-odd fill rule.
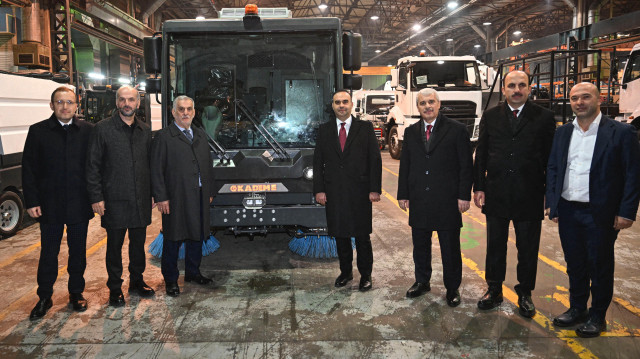
[[[87,230],[89,221],[67,225],[67,246],[69,259],[67,272],[69,293],[84,291],[84,270],[87,267]],[[40,260],[38,261],[38,297],[50,298],[53,295],[53,284],[58,278],[58,254],[64,224],[40,223]]]

